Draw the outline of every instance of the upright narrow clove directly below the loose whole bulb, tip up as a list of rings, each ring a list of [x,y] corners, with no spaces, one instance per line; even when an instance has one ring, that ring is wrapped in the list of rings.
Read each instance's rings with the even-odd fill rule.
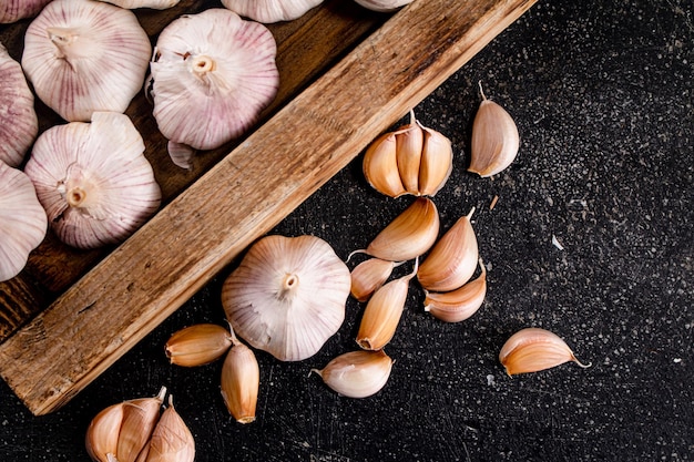
[[[234,337],[234,346],[222,366],[222,398],[239,423],[255,421],[261,369],[251,348]]]

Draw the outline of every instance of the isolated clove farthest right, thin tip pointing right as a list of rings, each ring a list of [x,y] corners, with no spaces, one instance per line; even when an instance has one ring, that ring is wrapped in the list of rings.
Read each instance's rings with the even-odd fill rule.
[[[540,328],[525,328],[513,333],[499,352],[499,361],[509,376],[537,372],[568,361],[582,365],[558,335]]]

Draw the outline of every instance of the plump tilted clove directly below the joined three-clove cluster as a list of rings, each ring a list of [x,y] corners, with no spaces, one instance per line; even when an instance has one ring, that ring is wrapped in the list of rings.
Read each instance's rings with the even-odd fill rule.
[[[439,212],[428,197],[418,197],[366,248],[372,257],[405,261],[427,251],[439,234]]]

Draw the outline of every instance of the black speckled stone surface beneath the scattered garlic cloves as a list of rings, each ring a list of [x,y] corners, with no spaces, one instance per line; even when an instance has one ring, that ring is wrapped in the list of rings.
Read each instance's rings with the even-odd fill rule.
[[[416,107],[453,142],[435,201],[443,228],[477,207],[489,292],[471,319],[445,325],[414,284],[375,397],[341,398],[308,376],[356,348],[363,307],[349,300],[314,358],[257,353],[258,420],[235,423],[221,363],[182,369],[163,355],[175,330],[224,322],[222,274],[51,415],[32,417],[1,383],[0,460],[86,461],[91,418],[162,384],[198,462],[694,460],[693,17],[690,0],[540,1]],[[466,172],[478,81],[522,138],[492,179]],[[317,235],[344,258],[366,246],[410,199],[372,192],[359,162],[275,233]],[[527,326],[557,332],[592,367],[507,377],[499,349]]]

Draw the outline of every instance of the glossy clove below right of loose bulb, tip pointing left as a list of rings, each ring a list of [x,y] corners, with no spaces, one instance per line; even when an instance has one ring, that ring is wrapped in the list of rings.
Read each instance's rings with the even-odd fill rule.
[[[337,393],[348,398],[367,398],[384,388],[392,359],[384,350],[350,351],[333,359],[324,369],[312,369]]]

